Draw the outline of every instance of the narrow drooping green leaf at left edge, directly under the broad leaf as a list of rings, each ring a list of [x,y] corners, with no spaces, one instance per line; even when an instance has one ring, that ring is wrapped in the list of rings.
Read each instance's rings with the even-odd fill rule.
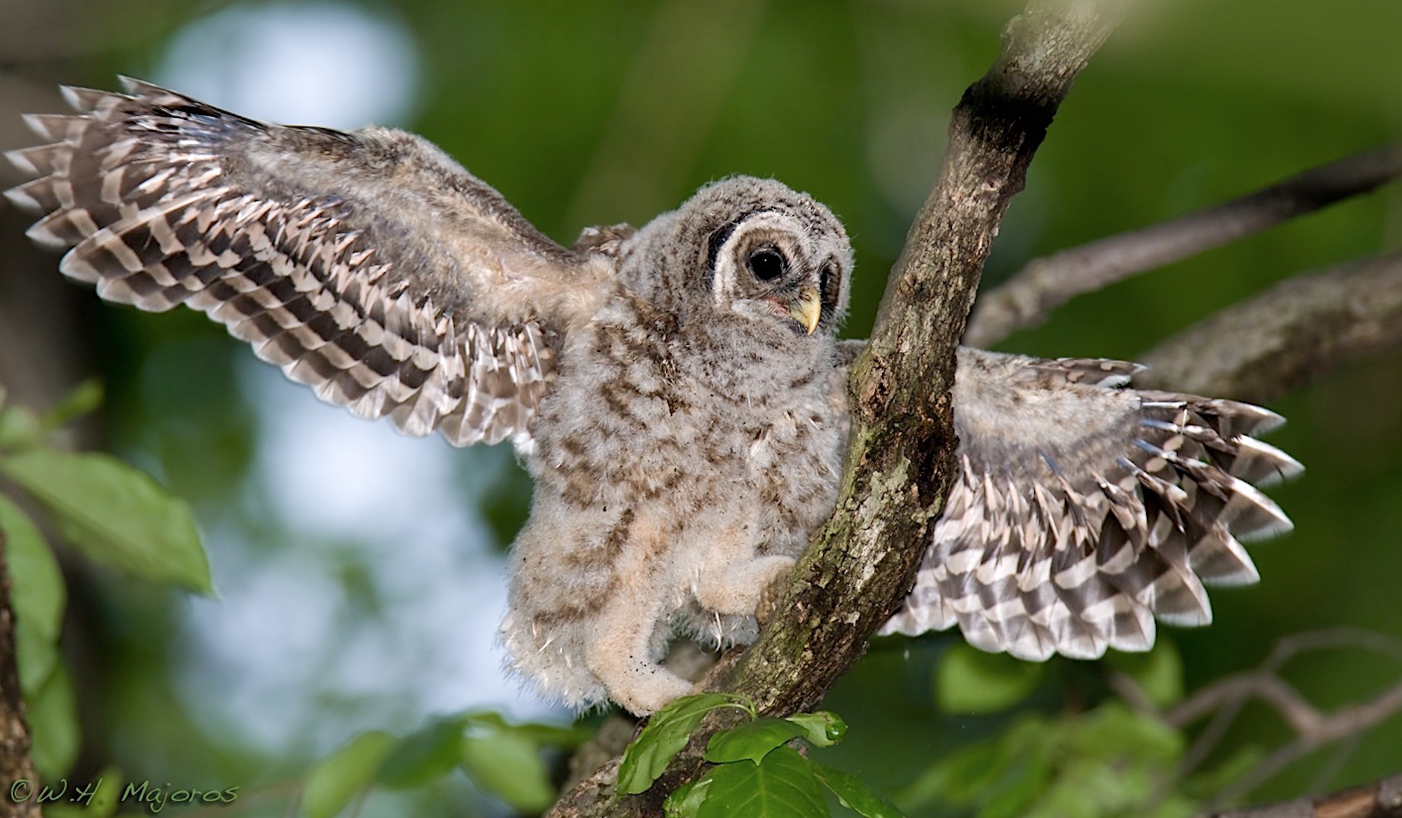
[[[10,605],[14,608],[20,689],[32,696],[59,661],[59,630],[66,602],[63,574],[34,521],[3,495],[0,532],[4,533],[6,564],[14,578]]]

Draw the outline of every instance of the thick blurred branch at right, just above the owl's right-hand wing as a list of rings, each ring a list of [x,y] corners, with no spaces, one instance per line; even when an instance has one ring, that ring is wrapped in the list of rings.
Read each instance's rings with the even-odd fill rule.
[[[1136,384],[1269,401],[1402,345],[1402,253],[1298,275],[1164,341]]]

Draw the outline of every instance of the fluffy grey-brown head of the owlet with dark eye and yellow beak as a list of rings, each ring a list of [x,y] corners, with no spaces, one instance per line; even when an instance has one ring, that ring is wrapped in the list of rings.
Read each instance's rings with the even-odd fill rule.
[[[775,338],[830,338],[847,313],[847,232],[781,182],[712,182],[638,237],[646,260],[634,274],[646,281],[629,283],[683,324],[721,317]]]

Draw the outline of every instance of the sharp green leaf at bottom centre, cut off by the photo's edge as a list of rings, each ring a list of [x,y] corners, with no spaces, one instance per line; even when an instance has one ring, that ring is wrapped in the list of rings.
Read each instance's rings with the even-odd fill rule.
[[[711,770],[697,818],[827,818],[827,801],[808,759],[788,746],[760,763],[735,762]]]

